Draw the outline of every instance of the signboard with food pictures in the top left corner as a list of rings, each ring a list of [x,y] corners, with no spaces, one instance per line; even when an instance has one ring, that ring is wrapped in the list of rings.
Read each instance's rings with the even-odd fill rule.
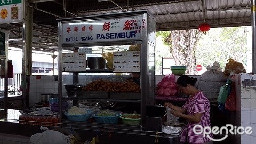
[[[22,22],[22,0],[0,1],[0,23]]]

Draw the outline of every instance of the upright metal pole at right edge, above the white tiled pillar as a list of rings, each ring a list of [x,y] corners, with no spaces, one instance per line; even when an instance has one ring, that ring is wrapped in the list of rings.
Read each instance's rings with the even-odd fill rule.
[[[252,0],[252,72],[256,72],[256,0]]]

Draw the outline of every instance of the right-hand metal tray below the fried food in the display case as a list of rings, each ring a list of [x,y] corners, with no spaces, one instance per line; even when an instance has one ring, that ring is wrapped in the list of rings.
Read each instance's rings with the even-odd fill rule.
[[[110,99],[141,100],[140,92],[109,92]]]

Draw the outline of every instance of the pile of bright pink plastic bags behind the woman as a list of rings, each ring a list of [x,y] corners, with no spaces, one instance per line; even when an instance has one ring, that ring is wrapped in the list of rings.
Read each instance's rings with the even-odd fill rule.
[[[157,84],[159,88],[156,92],[159,96],[174,96],[178,95],[178,86],[176,84],[175,75],[167,74],[164,78]]]

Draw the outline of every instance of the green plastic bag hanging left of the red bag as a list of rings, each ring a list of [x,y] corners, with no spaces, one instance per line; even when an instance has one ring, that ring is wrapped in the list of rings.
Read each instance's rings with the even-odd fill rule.
[[[232,83],[233,83],[233,81],[229,79],[229,80],[226,82],[225,85],[223,85],[223,86],[220,87],[220,93],[219,93],[218,99],[217,99],[217,101],[218,101],[219,103],[225,103],[225,102],[226,102],[226,100],[227,100],[227,98],[228,98],[228,95],[229,95],[230,92],[231,92],[231,84],[232,84]]]

